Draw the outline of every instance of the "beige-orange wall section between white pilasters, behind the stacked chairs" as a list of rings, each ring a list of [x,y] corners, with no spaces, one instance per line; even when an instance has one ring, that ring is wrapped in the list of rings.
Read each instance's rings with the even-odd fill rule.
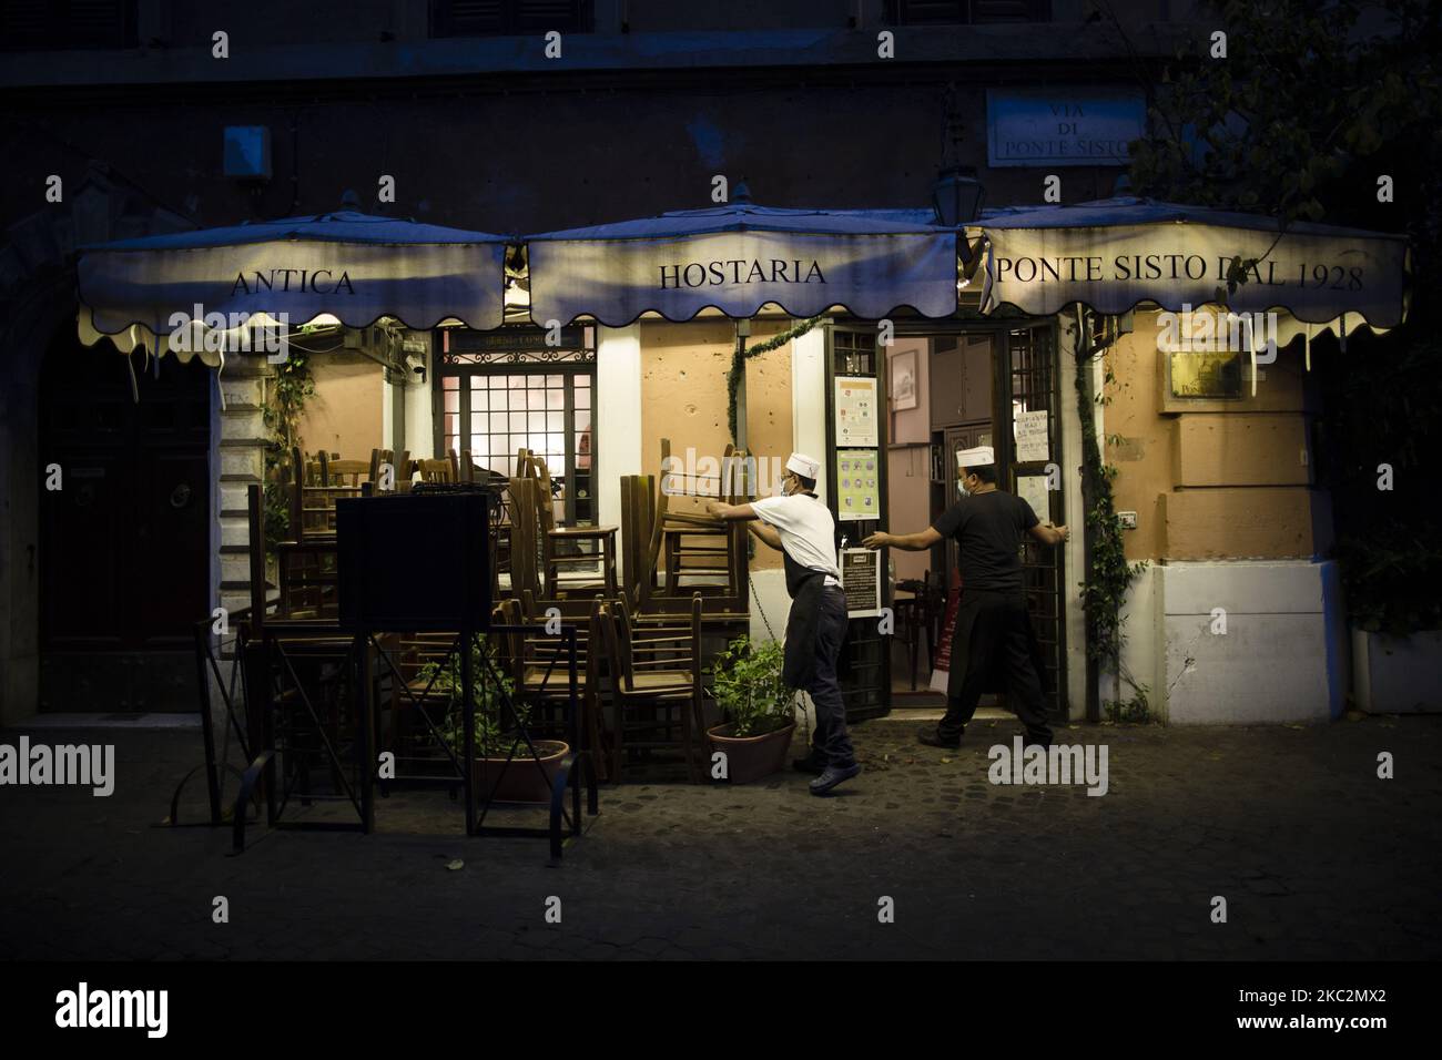
[[[789,324],[789,320],[756,320],[750,342],[766,342]],[[671,438],[671,451],[679,459],[695,449],[698,460],[707,456],[721,460],[731,440],[725,375],[734,346],[735,326],[730,320],[642,323],[642,466],[647,473],[660,472],[662,438]],[[784,463],[792,449],[790,345],[748,361],[746,388],[748,451]],[[689,498],[671,498],[669,503],[682,511],[701,506]],[[758,548],[754,570],[780,565],[780,552]]]

